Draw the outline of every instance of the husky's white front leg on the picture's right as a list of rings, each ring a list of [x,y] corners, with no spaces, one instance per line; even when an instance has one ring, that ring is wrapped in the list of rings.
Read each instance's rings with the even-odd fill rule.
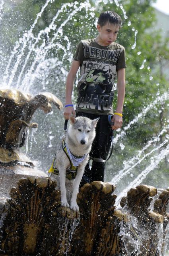
[[[76,200],[77,200],[77,194],[78,194],[78,191],[79,191],[80,181],[82,180],[83,174],[84,174],[84,167],[79,166],[76,178],[74,180],[72,198],[71,198],[71,201],[70,201],[70,208],[74,211],[79,210],[79,206],[78,206]]]

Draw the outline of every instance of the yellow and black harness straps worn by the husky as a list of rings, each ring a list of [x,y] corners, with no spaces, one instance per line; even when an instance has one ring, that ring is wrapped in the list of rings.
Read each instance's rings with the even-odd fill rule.
[[[65,140],[62,142],[62,149],[63,149],[64,153],[66,154],[66,156],[68,157],[68,159],[70,161],[70,167],[66,170],[66,178],[69,179],[69,180],[74,180],[76,178],[78,166],[74,166],[72,164],[72,161],[70,160],[70,157],[68,155],[68,151],[67,151],[67,148],[66,148]],[[54,167],[54,161],[55,160],[56,160],[56,157],[54,157],[54,160],[52,162],[52,166],[51,166],[51,168],[49,169],[48,172],[49,173],[54,173],[56,175],[59,175],[59,170],[56,167]]]

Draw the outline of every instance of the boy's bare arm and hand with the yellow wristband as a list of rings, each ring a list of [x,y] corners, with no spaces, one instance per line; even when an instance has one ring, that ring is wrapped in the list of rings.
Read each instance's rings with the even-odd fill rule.
[[[117,71],[117,108],[116,113],[122,114],[122,108],[125,96],[125,68],[121,68]],[[115,124],[112,126],[113,130],[122,127],[122,117],[120,115],[114,115],[113,120]]]

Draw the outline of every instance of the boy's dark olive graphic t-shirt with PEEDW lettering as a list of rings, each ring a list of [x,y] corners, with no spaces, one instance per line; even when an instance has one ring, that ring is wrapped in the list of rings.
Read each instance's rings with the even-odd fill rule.
[[[115,42],[101,46],[95,39],[82,40],[74,60],[80,62],[81,74],[76,110],[112,114],[116,72],[126,67],[124,47]]]

